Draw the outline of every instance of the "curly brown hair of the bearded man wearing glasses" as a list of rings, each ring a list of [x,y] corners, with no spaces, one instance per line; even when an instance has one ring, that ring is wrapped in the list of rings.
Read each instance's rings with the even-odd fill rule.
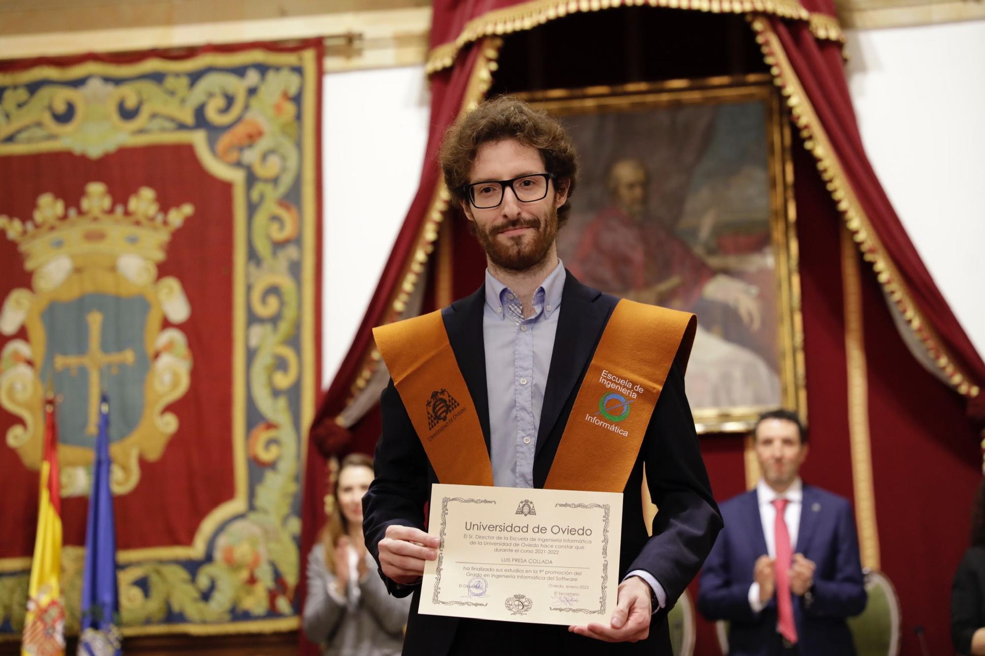
[[[455,200],[467,201],[465,185],[479,148],[504,139],[515,139],[539,150],[547,172],[555,175],[556,187],[566,189],[568,199],[571,198],[578,162],[567,132],[547,112],[534,109],[514,96],[500,96],[481,102],[445,132],[438,158],[444,183]],[[567,221],[570,211],[570,200],[558,208],[558,228]]]

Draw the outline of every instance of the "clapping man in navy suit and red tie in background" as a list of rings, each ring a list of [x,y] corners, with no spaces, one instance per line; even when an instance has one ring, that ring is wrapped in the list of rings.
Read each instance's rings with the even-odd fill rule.
[[[866,592],[851,504],[801,481],[808,444],[795,413],[765,413],[754,440],[762,478],[721,505],[698,609],[730,623],[730,656],[854,654],[845,618]]]

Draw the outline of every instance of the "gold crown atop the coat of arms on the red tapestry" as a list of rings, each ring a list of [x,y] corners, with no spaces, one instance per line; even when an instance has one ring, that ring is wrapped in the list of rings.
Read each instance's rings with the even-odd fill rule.
[[[90,182],[78,209],[66,211],[65,201],[43,193],[37,197],[33,220],[0,215],[0,230],[18,244],[29,272],[65,255],[78,266],[112,266],[123,254],[161,262],[171,233],[194,211],[184,203],[162,212],[158,193],[150,187],[131,195],[126,208],[113,207],[106,185]]]

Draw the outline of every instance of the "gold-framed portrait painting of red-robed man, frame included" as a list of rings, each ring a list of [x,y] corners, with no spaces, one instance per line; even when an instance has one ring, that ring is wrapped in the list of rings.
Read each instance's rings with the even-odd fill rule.
[[[558,255],[581,282],[694,312],[698,432],[806,420],[790,134],[769,76],[523,95],[560,118],[579,178]]]

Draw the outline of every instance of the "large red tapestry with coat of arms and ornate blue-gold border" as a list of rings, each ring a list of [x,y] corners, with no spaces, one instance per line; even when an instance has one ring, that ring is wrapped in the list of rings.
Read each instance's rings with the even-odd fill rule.
[[[49,391],[69,632],[100,393],[124,632],[296,627],[320,67],[306,43],[0,68],[0,633],[23,627]]]

